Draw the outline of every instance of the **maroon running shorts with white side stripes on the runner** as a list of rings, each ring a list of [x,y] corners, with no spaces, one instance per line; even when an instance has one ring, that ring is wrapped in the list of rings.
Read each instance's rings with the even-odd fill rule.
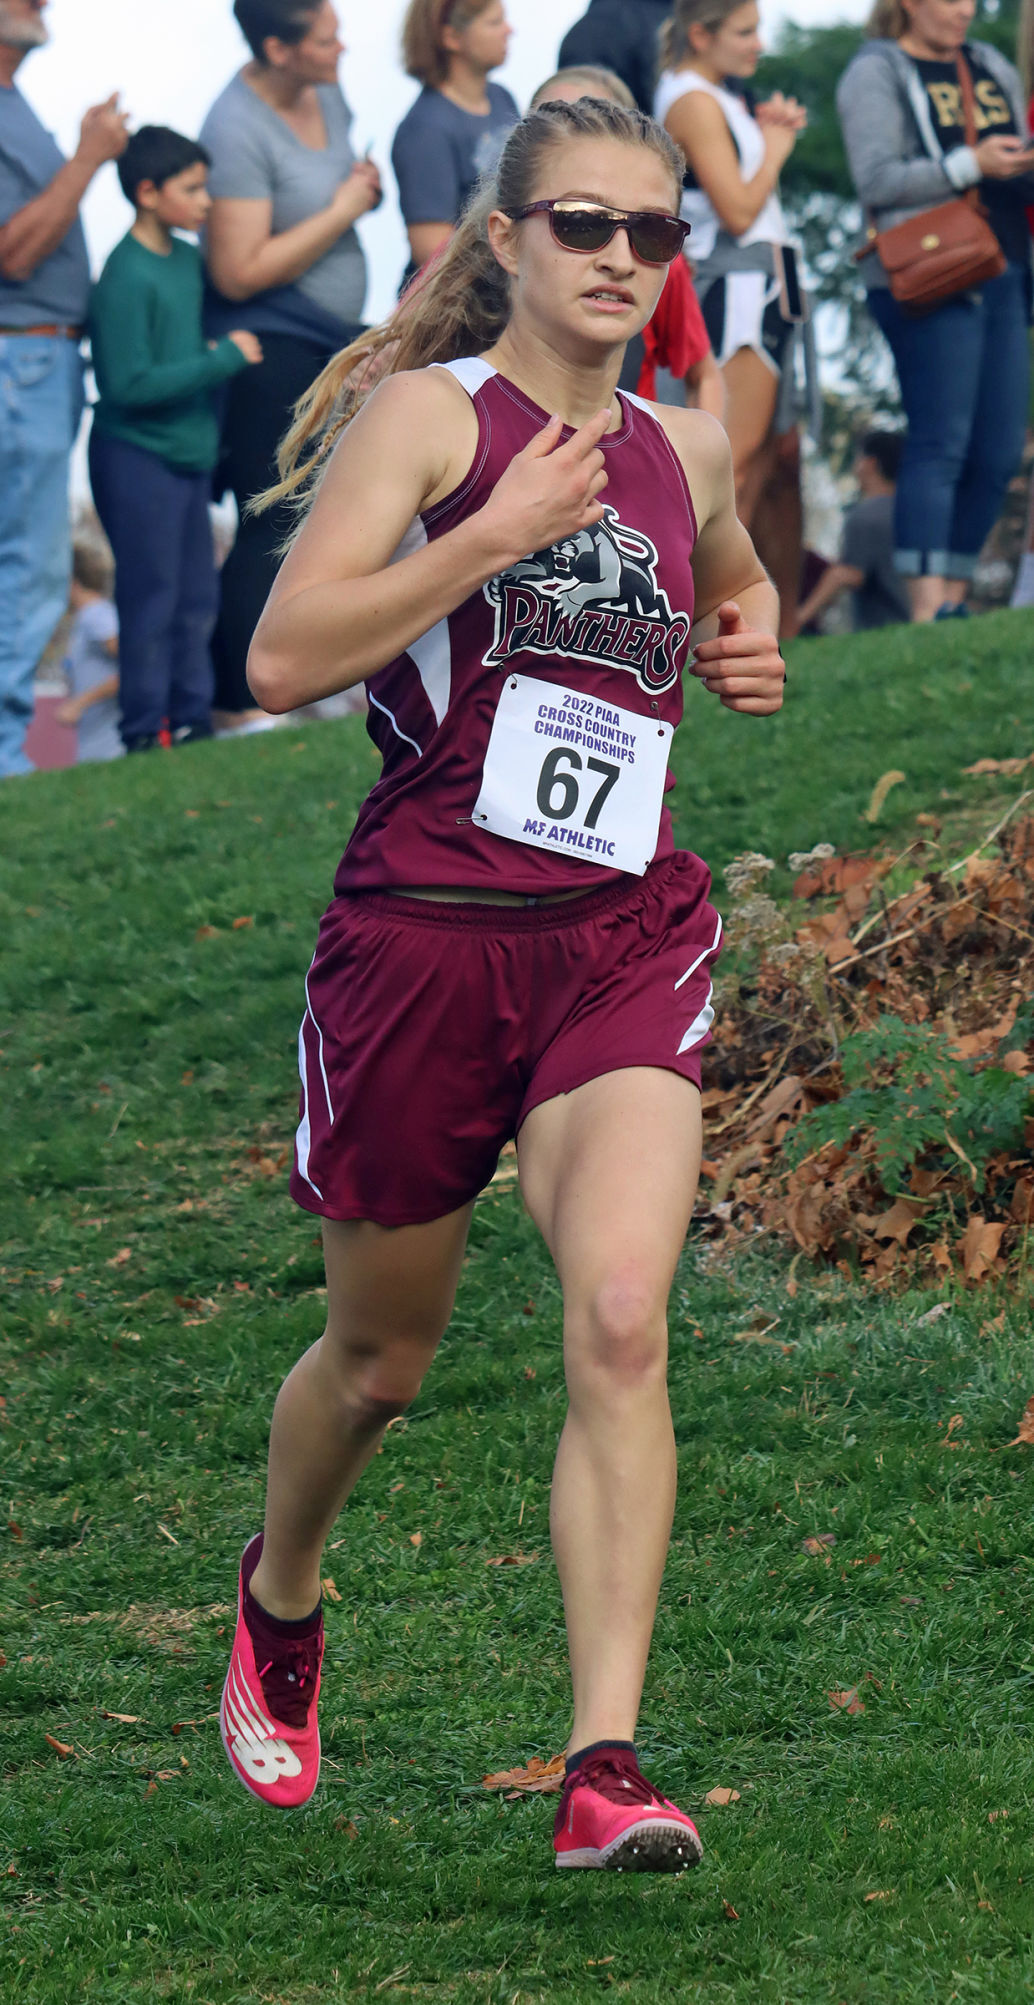
[[[353,892],[319,928],[291,1193],[421,1225],[491,1183],[525,1115],[629,1065],[699,1087],[721,920],[699,856],[535,906]]]

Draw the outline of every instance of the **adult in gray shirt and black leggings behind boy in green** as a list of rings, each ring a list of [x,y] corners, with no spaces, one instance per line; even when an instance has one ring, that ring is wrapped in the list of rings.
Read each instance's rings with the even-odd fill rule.
[[[240,527],[220,581],[212,636],[214,710],[224,728],[265,722],[248,690],[250,636],[277,575],[283,511],[250,515],[277,479],[277,445],[297,399],[361,325],[367,263],[355,223],[381,200],[381,176],[355,156],[337,82],[343,54],[331,0],[234,0],[252,62],[204,126],[212,158],[206,233],[208,333],[250,327],[263,363],[242,397],[228,387],[216,493],[232,491]]]

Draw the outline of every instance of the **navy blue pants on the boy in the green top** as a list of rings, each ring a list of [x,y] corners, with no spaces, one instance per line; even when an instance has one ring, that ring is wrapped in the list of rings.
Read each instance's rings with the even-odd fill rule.
[[[90,433],[90,487],[114,551],[122,740],[210,728],[218,608],[210,473],[180,473],[126,439]]]

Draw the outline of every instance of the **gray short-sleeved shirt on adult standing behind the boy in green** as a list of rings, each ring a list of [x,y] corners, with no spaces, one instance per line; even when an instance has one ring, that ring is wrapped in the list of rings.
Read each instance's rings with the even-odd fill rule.
[[[214,100],[200,142],[212,154],[208,188],[216,200],[269,200],[273,235],[327,209],[355,166],[353,114],[337,84],[317,84],[327,146],[305,146],[285,118],[238,72]],[[311,335],[335,345],[363,317],[367,259],[355,229],[295,279],[232,305],[230,325],[254,333]]]

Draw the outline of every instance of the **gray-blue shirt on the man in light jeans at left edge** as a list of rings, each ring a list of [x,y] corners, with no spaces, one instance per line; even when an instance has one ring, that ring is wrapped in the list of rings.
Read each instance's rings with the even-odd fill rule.
[[[34,203],[62,166],[64,154],[22,92],[14,84],[0,88],[0,223]],[[0,327],[38,327],[48,321],[78,327],[88,303],[90,261],[78,217],[28,279],[0,275]]]

